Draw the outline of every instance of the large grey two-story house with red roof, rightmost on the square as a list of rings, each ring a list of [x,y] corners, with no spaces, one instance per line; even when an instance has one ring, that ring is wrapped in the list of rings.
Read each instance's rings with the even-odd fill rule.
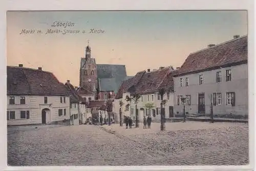
[[[191,53],[174,76],[175,114],[248,115],[247,36]]]

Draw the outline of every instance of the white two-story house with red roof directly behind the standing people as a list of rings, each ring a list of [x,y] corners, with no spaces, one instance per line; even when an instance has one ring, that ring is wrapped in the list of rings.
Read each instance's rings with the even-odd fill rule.
[[[131,96],[139,94],[141,97],[137,104],[139,122],[143,121],[143,116],[151,115],[152,121],[159,121],[161,118],[161,95],[160,89],[164,90],[163,100],[166,102],[164,108],[165,118],[174,117],[174,93],[172,66],[160,67],[159,69],[143,74],[139,82],[129,88]],[[131,103],[131,116],[135,120],[136,104]]]

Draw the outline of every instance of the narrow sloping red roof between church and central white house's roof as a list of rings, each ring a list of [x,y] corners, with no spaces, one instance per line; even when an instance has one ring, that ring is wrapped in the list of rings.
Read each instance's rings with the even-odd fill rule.
[[[132,87],[133,85],[136,85],[139,80],[141,79],[141,77],[143,76],[143,74],[145,74],[146,71],[140,71],[138,72],[134,77],[124,80],[120,86],[120,88],[118,89],[118,92],[115,96],[115,99],[121,99],[123,96],[124,92],[127,92],[128,89],[130,87]]]

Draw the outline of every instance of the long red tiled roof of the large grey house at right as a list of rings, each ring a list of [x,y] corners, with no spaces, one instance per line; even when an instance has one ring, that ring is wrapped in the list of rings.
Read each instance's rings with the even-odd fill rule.
[[[176,76],[247,63],[247,35],[191,53]]]

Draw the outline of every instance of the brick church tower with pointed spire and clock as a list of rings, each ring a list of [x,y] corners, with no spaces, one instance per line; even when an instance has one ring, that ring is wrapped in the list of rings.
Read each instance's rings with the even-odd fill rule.
[[[85,49],[86,57],[81,58],[80,62],[80,87],[96,92],[98,88],[97,68],[94,58],[91,58],[91,47]]]

